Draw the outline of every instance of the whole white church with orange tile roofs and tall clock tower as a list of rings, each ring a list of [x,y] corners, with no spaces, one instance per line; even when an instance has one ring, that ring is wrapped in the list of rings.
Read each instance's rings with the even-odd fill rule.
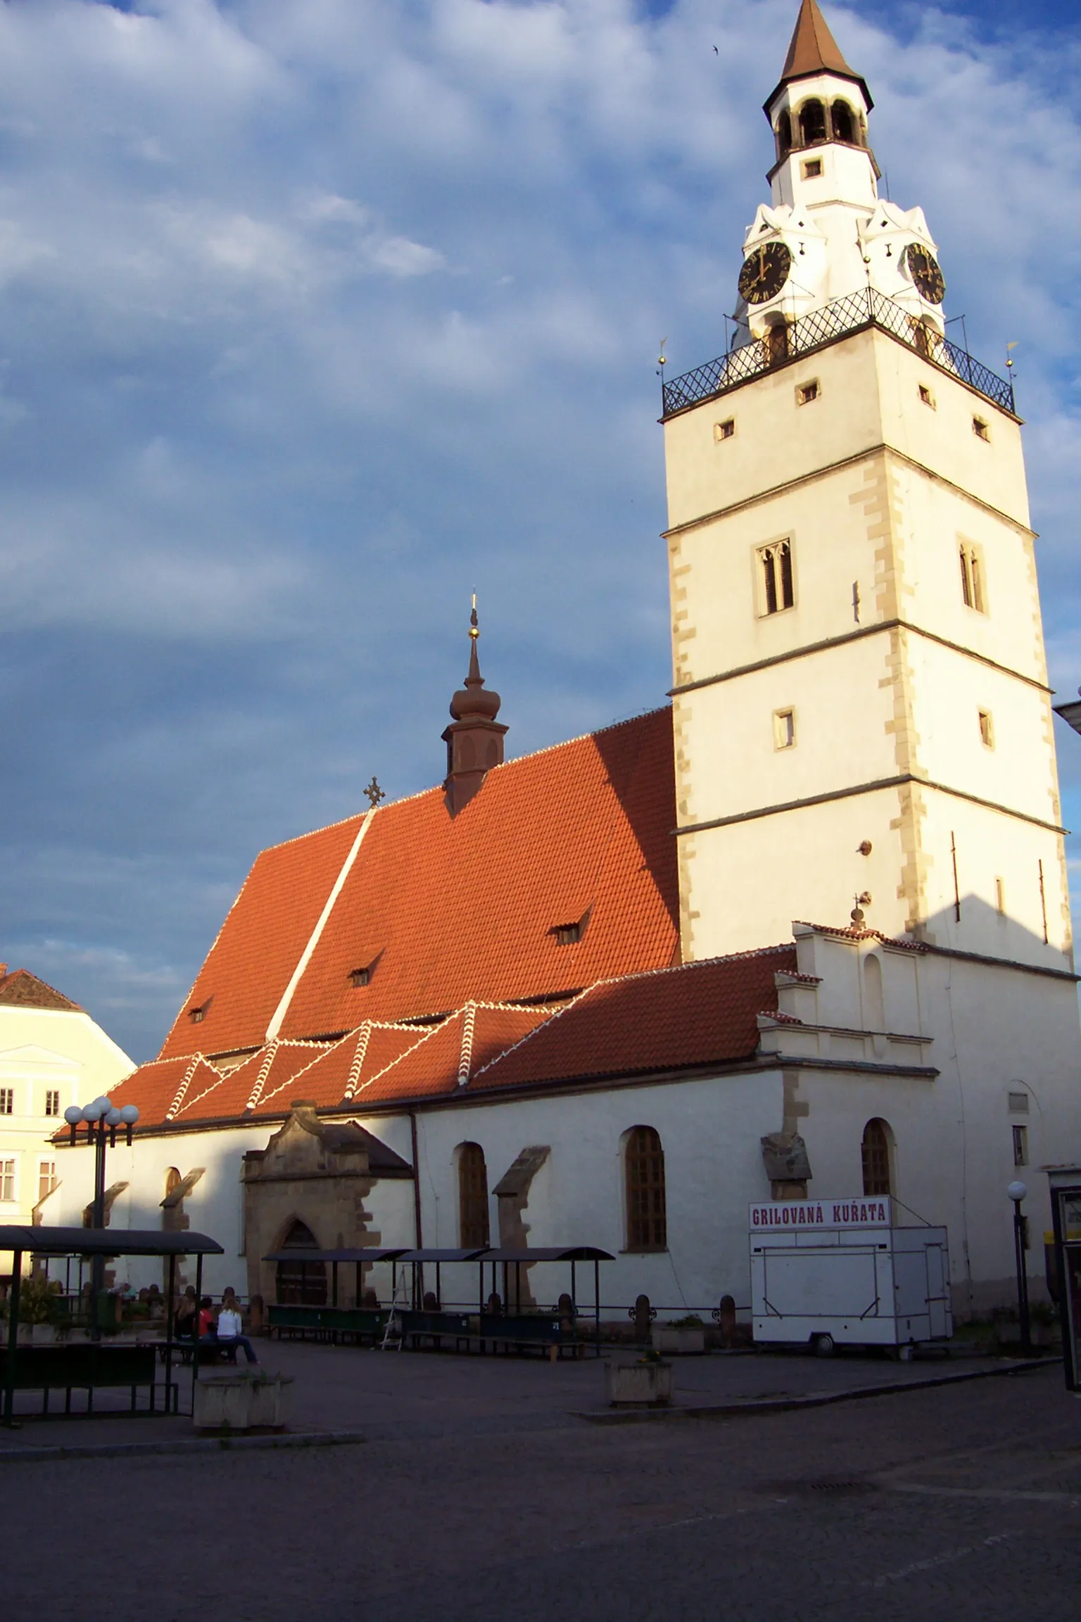
[[[964,1315],[1011,1296],[1015,1178],[1042,1275],[1081,1030],[1021,422],[815,0],[765,114],[734,339],[663,386],[669,702],[504,759],[473,611],[446,780],[264,850],[112,1092],[112,1223],[214,1234],[212,1289],[592,1244],[608,1302],[746,1309],[750,1202],[890,1194]]]

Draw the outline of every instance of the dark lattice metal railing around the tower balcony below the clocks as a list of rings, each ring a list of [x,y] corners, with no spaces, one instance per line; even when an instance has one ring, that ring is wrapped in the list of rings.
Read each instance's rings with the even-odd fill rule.
[[[810,315],[804,315],[797,321],[773,328],[765,339],[750,339],[726,355],[663,383],[663,415],[671,417],[674,412],[686,410],[687,406],[697,406],[715,394],[724,394],[726,389],[746,383],[747,378],[797,360],[801,355],[822,349],[823,344],[862,326],[880,326],[885,333],[891,333],[925,360],[953,373],[955,378],[961,378],[977,394],[1013,414],[1011,381],[997,376],[989,367],[974,360],[966,349],[942,337],[932,326],[917,320],[893,298],[887,298],[874,287],[862,287],[844,298],[835,298],[822,310],[812,310]]]

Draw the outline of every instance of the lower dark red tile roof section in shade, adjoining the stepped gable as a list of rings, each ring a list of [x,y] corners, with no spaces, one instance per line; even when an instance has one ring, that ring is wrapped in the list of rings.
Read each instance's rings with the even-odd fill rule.
[[[776,1007],[775,973],[794,968],[796,949],[771,946],[592,986],[481,1069],[470,1092],[747,1059],[758,1012]]]

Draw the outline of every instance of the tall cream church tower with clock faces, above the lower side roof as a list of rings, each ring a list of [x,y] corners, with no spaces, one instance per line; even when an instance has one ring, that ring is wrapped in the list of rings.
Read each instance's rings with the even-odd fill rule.
[[[1071,967],[1021,422],[870,110],[802,0],[736,337],[664,384],[682,954],[852,916]]]

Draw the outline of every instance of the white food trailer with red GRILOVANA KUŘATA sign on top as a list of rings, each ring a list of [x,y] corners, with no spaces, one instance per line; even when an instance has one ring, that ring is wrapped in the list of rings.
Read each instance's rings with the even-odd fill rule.
[[[953,1335],[945,1228],[895,1228],[885,1197],[771,1200],[750,1207],[749,1226],[755,1341],[904,1356]]]

